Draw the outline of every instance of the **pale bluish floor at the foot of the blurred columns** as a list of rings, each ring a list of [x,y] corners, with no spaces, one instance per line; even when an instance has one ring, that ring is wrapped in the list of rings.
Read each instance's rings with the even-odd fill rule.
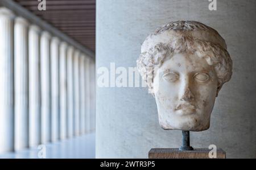
[[[37,148],[0,155],[0,158],[95,158],[95,133],[77,136]]]

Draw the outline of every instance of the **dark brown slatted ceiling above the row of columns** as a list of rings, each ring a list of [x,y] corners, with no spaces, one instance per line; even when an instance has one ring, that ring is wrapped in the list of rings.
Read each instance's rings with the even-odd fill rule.
[[[95,52],[96,0],[46,0],[46,11],[37,0],[15,2]]]

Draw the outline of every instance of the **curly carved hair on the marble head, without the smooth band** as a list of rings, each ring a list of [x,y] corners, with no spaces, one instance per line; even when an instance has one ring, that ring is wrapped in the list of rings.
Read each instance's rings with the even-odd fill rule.
[[[184,21],[168,23],[165,26],[158,28],[158,30],[151,35],[158,35],[170,29],[179,31],[187,31],[189,29],[190,31],[191,29],[204,29],[205,31],[208,29],[210,31],[214,31],[215,34],[217,32],[213,30],[213,28],[207,27],[199,22],[188,22],[187,26],[184,25],[186,23]],[[232,76],[232,60],[225,48],[225,41],[224,45],[220,45],[210,41],[196,39],[193,36],[181,35],[179,38],[170,40],[168,43],[159,42],[155,44],[154,47],[142,52],[137,60],[137,68],[143,80],[146,81],[149,92],[154,94],[152,84],[154,82],[155,67],[160,67],[166,57],[171,58],[175,53],[196,53],[197,56],[204,58],[209,65],[213,65],[218,77],[218,94],[222,85],[225,82],[228,82]]]

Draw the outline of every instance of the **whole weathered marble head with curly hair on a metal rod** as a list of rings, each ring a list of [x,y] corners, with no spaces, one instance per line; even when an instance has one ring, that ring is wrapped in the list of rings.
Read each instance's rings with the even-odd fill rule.
[[[225,40],[195,21],[170,22],[149,35],[137,68],[165,130],[207,130],[215,98],[232,76]]]

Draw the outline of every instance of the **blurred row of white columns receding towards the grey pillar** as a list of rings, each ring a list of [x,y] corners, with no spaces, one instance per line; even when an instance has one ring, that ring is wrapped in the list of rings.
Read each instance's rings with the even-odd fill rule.
[[[0,7],[0,154],[95,129],[94,61]]]

